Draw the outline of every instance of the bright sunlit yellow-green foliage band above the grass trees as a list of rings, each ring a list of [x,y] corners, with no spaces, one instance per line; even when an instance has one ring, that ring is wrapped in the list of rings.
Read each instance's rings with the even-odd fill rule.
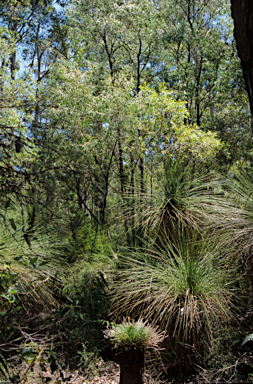
[[[82,143],[80,149],[85,148],[87,155],[98,156],[108,146],[113,148],[119,126],[126,161],[129,161],[130,151],[134,158],[153,151],[159,156],[160,148],[168,146],[172,135],[179,151],[190,151],[197,158],[213,157],[221,147],[214,133],[205,133],[196,126],[184,126],[187,115],[184,103],[175,101],[164,84],[159,85],[158,92],[148,85],[142,86],[133,98],[133,79],[129,80],[123,73],[114,81],[109,77],[101,82],[101,90],[97,93],[97,85],[93,82],[97,65],[87,62],[87,66],[89,71],[83,74],[75,65],[63,62],[49,84],[57,103],[51,117],[58,124],[61,120],[66,124],[68,120],[68,128],[62,133],[75,140],[73,144],[68,143],[75,150]],[[99,130],[94,125],[96,115],[101,121]],[[103,142],[107,142],[107,148]],[[105,153],[101,155],[104,157]]]

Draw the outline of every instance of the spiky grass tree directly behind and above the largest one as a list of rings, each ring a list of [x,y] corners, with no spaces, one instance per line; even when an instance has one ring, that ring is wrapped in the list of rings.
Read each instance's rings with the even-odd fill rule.
[[[154,181],[152,191],[146,190],[136,207],[136,225],[141,223],[147,236],[155,234],[159,247],[163,240],[178,238],[182,225],[202,232],[206,216],[217,204],[214,175],[211,170],[199,168],[194,161],[168,158],[164,161],[162,177]],[[155,180],[155,175],[152,177]]]

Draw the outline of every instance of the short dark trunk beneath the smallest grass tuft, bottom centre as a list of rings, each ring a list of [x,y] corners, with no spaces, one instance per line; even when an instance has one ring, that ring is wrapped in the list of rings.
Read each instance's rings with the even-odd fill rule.
[[[120,365],[120,384],[143,384],[144,351],[121,351],[116,355]]]

